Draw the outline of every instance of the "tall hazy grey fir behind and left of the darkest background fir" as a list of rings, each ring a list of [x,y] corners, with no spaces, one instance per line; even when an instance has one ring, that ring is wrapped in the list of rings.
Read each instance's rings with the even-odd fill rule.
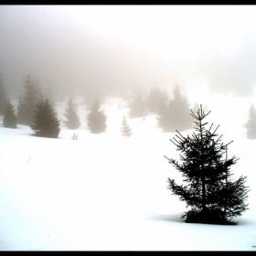
[[[37,82],[30,75],[27,75],[24,84],[25,93],[19,98],[17,106],[17,122],[30,125],[39,99]]]

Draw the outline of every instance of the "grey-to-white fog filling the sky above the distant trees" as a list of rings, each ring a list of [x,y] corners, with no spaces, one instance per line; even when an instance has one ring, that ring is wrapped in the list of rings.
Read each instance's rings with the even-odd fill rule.
[[[247,97],[255,14],[255,5],[1,5],[0,72],[13,99],[27,74],[57,98],[175,84]]]

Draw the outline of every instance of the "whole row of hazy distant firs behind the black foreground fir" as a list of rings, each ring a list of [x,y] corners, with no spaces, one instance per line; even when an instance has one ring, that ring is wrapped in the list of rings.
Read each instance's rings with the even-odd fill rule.
[[[41,125],[42,130],[53,130],[49,136],[58,137],[61,122],[60,120],[57,121],[58,114],[54,108],[55,103],[51,99],[50,94],[48,93],[46,95],[42,93],[37,81],[30,75],[27,75],[25,78],[23,89],[23,93],[20,95],[17,106],[15,107],[8,98],[4,81],[0,77],[0,116],[2,116],[4,127],[16,128],[17,124],[23,124],[29,125],[37,135],[48,134],[39,132],[40,129],[38,127]],[[97,91],[94,92],[92,90],[90,94],[88,91],[87,97],[85,97],[88,101],[86,101],[86,107],[89,107],[86,111],[90,111],[86,116],[87,125],[91,133],[104,133],[107,127],[107,116],[101,109],[103,95],[96,93]],[[96,98],[93,95],[99,95],[99,97]],[[177,85],[173,90],[172,98],[169,98],[167,92],[157,86],[152,87],[145,95],[142,92],[133,93],[133,98],[129,100],[128,107],[128,116],[123,117],[121,123],[121,133],[125,136],[132,134],[131,127],[127,126],[128,117],[144,119],[148,114],[156,115],[158,126],[165,133],[174,133],[176,130],[182,132],[194,127],[193,120],[189,115],[190,106],[187,97],[180,91]],[[195,103],[192,111],[197,112],[197,109],[198,104]],[[204,109],[208,111],[208,106],[204,105]],[[51,125],[48,126],[46,123],[51,123]],[[62,123],[68,129],[72,130],[80,127],[80,116],[77,105],[71,96],[69,96],[67,101]],[[246,128],[247,138],[256,139],[256,110],[252,104],[249,110],[248,122],[244,124],[244,127]]]

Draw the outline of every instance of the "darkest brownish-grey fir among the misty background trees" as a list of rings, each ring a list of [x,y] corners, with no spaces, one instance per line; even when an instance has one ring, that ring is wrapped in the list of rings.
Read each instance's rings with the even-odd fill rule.
[[[48,98],[42,97],[38,101],[30,127],[40,137],[57,138],[59,136],[60,121]]]

